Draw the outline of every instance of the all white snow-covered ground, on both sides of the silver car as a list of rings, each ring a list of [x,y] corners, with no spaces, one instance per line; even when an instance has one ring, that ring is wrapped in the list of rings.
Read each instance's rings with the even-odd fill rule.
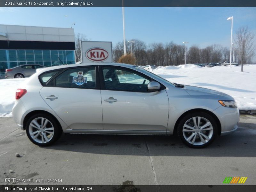
[[[153,73],[168,81],[200,86],[234,97],[240,110],[256,109],[256,65],[202,68],[193,64],[158,67]],[[11,117],[15,91],[24,79],[0,80],[0,117]]]

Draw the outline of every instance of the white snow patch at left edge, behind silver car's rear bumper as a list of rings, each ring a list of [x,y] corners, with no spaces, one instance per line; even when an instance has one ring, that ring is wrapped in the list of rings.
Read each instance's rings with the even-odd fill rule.
[[[16,90],[26,78],[0,80],[0,117],[12,117]]]

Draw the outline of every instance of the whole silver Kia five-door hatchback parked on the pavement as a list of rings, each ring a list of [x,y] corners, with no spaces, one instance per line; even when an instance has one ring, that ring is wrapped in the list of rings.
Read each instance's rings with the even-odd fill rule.
[[[120,63],[43,68],[16,92],[15,122],[39,146],[65,133],[173,134],[189,147],[237,129],[239,111],[224,93],[170,83]]]

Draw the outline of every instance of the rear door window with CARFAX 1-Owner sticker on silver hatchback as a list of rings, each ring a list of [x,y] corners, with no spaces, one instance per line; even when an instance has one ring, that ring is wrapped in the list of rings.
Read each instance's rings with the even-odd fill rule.
[[[56,87],[95,89],[95,67],[67,69],[56,77]]]

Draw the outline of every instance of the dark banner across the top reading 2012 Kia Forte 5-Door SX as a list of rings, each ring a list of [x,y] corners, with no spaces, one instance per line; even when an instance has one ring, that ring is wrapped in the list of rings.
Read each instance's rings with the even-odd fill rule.
[[[0,7],[256,7],[255,0],[1,0]]]

